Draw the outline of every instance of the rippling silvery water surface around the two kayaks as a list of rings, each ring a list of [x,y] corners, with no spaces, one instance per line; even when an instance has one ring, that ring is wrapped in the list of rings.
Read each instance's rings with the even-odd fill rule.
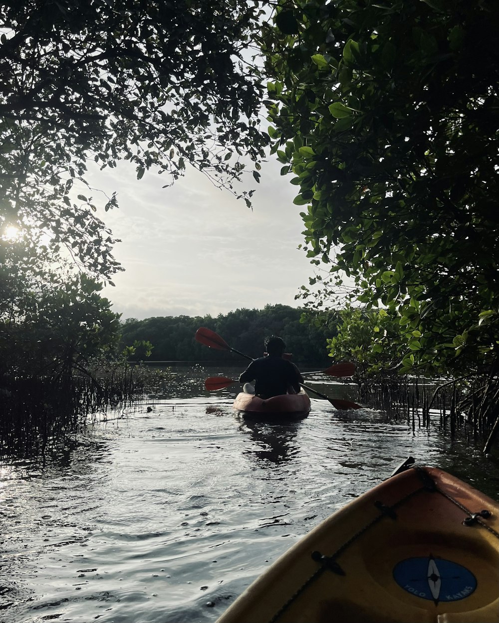
[[[436,430],[312,399],[293,424],[245,422],[238,386],[179,373],[128,419],[45,464],[0,468],[0,621],[213,622],[312,526],[408,455],[499,498],[499,467]],[[350,387],[315,385],[334,397]],[[147,407],[152,406],[148,412]]]

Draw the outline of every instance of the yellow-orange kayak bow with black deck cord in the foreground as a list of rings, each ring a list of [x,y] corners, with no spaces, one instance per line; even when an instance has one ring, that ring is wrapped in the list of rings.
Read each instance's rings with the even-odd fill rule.
[[[498,623],[499,504],[414,465],[283,554],[217,623]]]

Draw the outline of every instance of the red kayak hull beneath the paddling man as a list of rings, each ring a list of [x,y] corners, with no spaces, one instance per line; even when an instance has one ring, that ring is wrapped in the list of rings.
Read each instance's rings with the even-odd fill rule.
[[[310,398],[301,390],[299,394],[283,394],[268,399],[241,392],[236,396],[234,409],[244,416],[261,419],[299,419],[308,416]]]

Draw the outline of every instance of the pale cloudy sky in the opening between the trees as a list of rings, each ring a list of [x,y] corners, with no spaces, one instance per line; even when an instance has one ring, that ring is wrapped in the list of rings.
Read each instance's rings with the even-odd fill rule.
[[[102,292],[112,310],[142,320],[276,303],[298,307],[294,296],[314,273],[298,249],[304,242],[299,213],[306,206],[293,204],[293,176],[281,176],[282,164],[273,158],[262,164],[259,184],[250,168],[240,187],[256,188],[253,211],[195,169],[170,188],[162,188],[168,180],[154,169],[138,181],[127,162],[87,176],[94,188],[117,191],[120,206],[97,213],[122,240],[114,255],[125,272]],[[105,203],[99,193],[92,196],[97,205]]]

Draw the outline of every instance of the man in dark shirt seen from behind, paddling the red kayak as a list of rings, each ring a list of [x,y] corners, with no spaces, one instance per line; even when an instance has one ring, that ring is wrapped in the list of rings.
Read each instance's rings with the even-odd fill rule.
[[[254,392],[262,398],[298,393],[303,378],[294,363],[283,359],[284,341],[272,337],[265,348],[268,356],[254,359],[241,374],[240,383],[255,381]]]

